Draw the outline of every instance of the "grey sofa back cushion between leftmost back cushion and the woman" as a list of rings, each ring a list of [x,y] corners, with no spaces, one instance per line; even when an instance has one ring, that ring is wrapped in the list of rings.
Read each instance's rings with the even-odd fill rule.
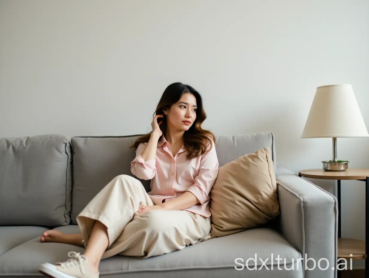
[[[77,215],[115,176],[135,177],[131,173],[131,161],[136,150],[130,146],[139,136],[72,137],[72,224],[77,224]],[[150,180],[140,181],[150,191]]]

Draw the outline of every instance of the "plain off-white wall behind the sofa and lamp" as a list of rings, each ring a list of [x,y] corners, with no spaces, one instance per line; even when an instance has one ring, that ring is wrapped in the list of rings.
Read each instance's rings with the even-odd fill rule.
[[[331,139],[300,138],[315,89],[351,84],[369,127],[368,49],[365,0],[2,0],[0,137],[145,133],[180,81],[205,128],[272,131],[278,166],[320,168]],[[338,158],[369,168],[369,138],[339,138]],[[342,236],[364,240],[364,216],[363,183],[342,182]]]

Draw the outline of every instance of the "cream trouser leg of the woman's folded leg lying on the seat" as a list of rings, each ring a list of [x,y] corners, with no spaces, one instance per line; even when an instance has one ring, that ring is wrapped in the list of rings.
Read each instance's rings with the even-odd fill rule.
[[[139,258],[181,250],[210,239],[210,217],[186,210],[152,210],[135,214],[103,259],[118,254]]]

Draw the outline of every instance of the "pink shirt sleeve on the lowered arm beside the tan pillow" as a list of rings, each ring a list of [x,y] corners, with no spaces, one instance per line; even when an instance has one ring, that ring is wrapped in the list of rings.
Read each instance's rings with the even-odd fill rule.
[[[211,150],[201,156],[200,171],[194,180],[194,184],[186,190],[195,195],[201,205],[210,198],[209,193],[217,179],[218,170],[219,162],[213,142]]]

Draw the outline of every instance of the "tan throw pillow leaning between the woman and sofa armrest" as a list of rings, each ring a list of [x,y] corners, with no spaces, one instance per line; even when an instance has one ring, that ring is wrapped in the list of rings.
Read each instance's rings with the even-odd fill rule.
[[[210,191],[210,211],[212,238],[254,228],[279,215],[269,148],[219,167]]]

